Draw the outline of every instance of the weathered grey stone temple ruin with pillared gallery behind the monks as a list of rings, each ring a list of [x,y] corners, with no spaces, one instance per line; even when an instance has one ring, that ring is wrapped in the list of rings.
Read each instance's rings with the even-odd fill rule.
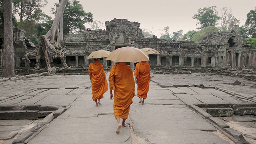
[[[215,32],[203,39],[202,43],[186,41],[161,40],[156,36],[144,38],[140,23],[126,19],[106,21],[106,30],[86,30],[81,34],[67,34],[62,41],[65,60],[68,66],[88,67],[93,60],[87,56],[96,50],[114,51],[124,46],[136,48],[154,48],[161,55],[150,54],[149,64],[154,67],[184,67],[184,68],[256,68],[256,50],[241,40],[234,32]],[[3,31],[3,27],[0,27]],[[4,37],[0,34],[0,67],[3,65]],[[24,31],[14,28],[14,52],[16,68],[33,68],[36,58],[30,58],[31,63],[22,60],[26,52],[36,47],[24,37]],[[42,68],[45,64],[42,61]],[[102,58],[105,68],[113,63]],[[134,64],[129,63],[132,68]],[[59,56],[54,56],[54,65],[61,68]]]

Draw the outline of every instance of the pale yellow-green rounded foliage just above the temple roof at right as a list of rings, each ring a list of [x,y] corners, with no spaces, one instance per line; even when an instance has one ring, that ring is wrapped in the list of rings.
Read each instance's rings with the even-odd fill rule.
[[[194,42],[202,42],[203,38],[206,36],[209,36],[210,34],[213,34],[214,32],[218,32],[219,29],[215,26],[209,26],[207,28],[202,28],[202,30],[196,32],[193,35],[192,41]]]

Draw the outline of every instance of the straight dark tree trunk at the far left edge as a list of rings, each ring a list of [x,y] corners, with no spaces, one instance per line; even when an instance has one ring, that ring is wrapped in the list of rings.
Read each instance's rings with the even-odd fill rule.
[[[4,0],[4,70],[1,77],[14,76],[12,0]]]

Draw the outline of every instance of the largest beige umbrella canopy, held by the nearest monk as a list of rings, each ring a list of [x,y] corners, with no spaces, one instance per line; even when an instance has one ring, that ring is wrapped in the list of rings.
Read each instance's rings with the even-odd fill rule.
[[[113,62],[140,62],[149,61],[149,57],[138,48],[126,46],[111,52],[106,60],[112,60]]]

